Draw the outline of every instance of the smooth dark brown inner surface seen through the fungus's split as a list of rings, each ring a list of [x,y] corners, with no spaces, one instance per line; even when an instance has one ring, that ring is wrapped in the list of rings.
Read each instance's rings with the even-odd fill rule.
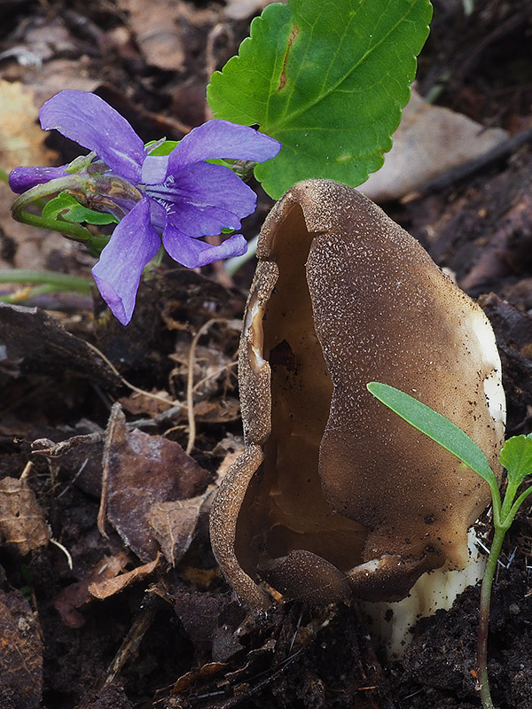
[[[332,509],[318,477],[332,381],[307,284],[305,266],[314,237],[301,207],[293,206],[270,243],[278,281],[263,306],[262,332],[254,316],[252,347],[257,354],[262,347],[270,364],[272,406],[264,461],[247,489],[237,526],[237,557],[251,576],[296,549],[347,571],[360,563],[367,534],[364,526]]]

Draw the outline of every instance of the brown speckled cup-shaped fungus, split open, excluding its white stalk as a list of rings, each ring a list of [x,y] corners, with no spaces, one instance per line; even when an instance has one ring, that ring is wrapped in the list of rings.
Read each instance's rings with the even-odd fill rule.
[[[239,596],[396,601],[468,563],[488,485],[366,390],[450,418],[495,471],[505,398],[489,321],[371,200],[296,184],[262,228],[240,343],[246,450],[211,514]]]

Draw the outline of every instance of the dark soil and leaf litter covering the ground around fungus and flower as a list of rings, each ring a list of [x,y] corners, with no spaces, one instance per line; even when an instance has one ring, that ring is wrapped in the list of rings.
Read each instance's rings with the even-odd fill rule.
[[[532,12],[528,0],[475,3],[469,15],[466,5],[435,3],[419,91],[525,137],[483,167],[444,175],[385,208],[485,308],[503,359],[512,435],[532,431]],[[0,79],[30,105],[63,88],[93,90],[149,140],[178,139],[208,117],[207,75],[235,53],[251,16],[228,19],[223,3],[200,0],[12,0],[0,6],[0,19]],[[57,164],[75,156],[58,135],[47,149]],[[5,160],[5,169],[18,164]],[[272,204],[256,187],[250,238]],[[7,187],[2,192],[8,203]],[[0,222],[3,268],[89,274],[82,250],[14,229],[8,218]],[[23,533],[4,533],[0,548],[0,709],[480,706],[479,588],[420,621],[403,660],[388,665],[372,650],[355,603],[257,612],[239,604],[216,568],[207,510],[217,472],[242,446],[235,321],[253,268],[231,284],[219,269],[198,275],[165,262],[141,286],[126,330],[96,294],[94,305],[62,295],[25,302],[38,309],[0,308],[9,354],[0,360],[0,478],[25,471],[9,495],[17,496],[15,517],[29,520]],[[189,355],[194,333],[211,318],[192,357],[194,383],[208,378],[194,399],[191,458],[183,451]],[[68,443],[60,448],[61,441]],[[137,460],[153,447],[162,464],[150,458],[160,475],[148,490]],[[0,495],[7,498],[5,487]],[[153,505],[176,499],[184,505],[172,508],[171,526],[168,508],[155,514]],[[508,534],[492,600],[489,676],[499,709],[532,706],[531,505]],[[45,522],[60,547],[46,543]]]

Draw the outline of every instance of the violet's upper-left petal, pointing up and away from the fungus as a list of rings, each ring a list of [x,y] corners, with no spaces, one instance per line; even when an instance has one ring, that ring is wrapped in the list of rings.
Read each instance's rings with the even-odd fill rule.
[[[63,136],[97,152],[118,175],[132,183],[140,182],[144,143],[103,98],[84,91],[59,91],[46,101],[39,116],[44,130],[59,130]]]

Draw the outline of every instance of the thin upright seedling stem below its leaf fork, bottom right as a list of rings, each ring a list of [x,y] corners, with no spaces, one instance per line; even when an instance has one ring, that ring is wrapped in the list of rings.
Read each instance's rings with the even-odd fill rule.
[[[494,709],[493,701],[489,693],[488,679],[488,631],[489,631],[489,602],[491,600],[491,588],[497,570],[499,554],[505,541],[506,526],[495,528],[493,542],[489,551],[486,571],[482,579],[481,586],[481,617],[479,621],[479,635],[477,644],[477,673],[483,709]]]

